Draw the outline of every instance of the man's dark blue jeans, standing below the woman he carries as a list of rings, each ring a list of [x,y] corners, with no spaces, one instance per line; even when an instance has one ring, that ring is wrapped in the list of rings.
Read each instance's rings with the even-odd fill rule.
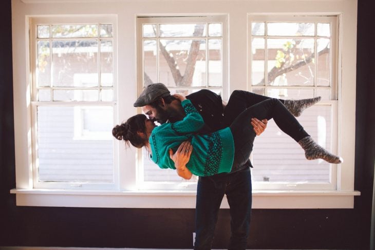
[[[194,249],[211,249],[224,194],[227,195],[231,214],[231,239],[228,249],[246,248],[252,201],[249,168],[226,175],[199,177]]]

